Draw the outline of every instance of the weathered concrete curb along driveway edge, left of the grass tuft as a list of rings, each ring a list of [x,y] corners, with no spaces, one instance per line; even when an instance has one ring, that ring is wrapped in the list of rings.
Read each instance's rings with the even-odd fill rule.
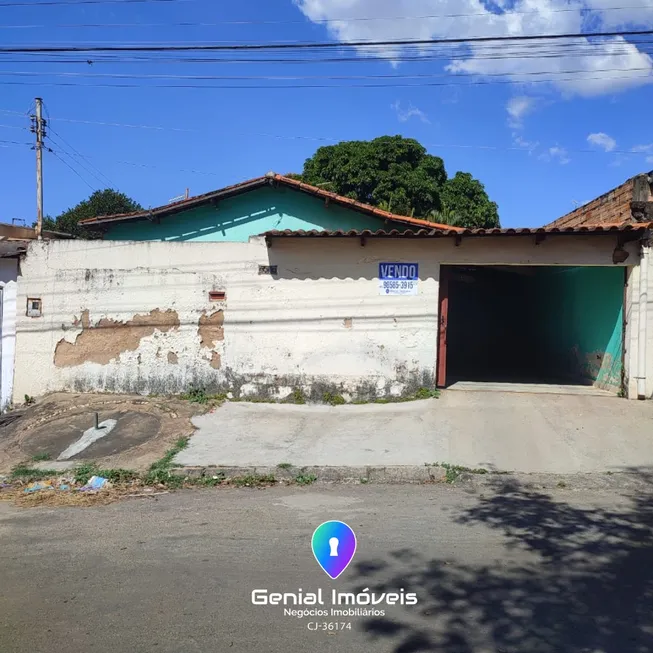
[[[315,477],[316,483],[441,483],[446,470],[436,465],[395,465],[391,467],[176,467],[171,474],[189,478],[224,475],[225,479],[260,475],[274,476],[278,481],[294,481],[297,476]]]

